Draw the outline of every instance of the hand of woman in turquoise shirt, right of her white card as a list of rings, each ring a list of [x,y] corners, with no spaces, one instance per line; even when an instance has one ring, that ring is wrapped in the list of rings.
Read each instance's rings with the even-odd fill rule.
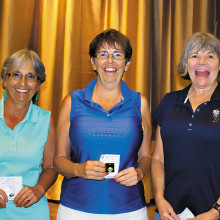
[[[27,208],[38,202],[43,195],[44,190],[40,186],[25,186],[17,194],[13,202],[15,203],[16,207],[24,206],[25,208]]]

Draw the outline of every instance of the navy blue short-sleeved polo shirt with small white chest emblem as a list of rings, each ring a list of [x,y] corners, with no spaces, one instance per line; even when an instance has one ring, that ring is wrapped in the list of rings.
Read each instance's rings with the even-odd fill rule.
[[[164,196],[176,213],[210,210],[220,196],[220,85],[195,112],[190,86],[165,95],[155,112],[164,150]]]

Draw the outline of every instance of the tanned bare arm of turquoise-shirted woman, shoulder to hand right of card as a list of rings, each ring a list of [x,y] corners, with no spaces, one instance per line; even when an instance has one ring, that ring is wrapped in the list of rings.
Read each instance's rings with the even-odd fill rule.
[[[42,172],[36,186],[25,186],[17,194],[14,203],[17,207],[29,207],[38,202],[45,192],[56,181],[57,173],[53,168],[53,157],[55,153],[55,126],[51,118],[47,142],[44,148]]]

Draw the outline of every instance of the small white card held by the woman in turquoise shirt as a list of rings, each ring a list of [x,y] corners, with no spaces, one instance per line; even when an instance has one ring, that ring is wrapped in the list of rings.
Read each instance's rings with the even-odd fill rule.
[[[0,189],[5,191],[8,200],[13,200],[22,189],[22,176],[0,177]]]

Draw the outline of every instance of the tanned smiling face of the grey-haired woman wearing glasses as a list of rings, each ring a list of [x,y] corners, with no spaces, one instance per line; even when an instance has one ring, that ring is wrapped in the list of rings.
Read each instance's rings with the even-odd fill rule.
[[[6,76],[4,79],[4,86],[7,92],[7,99],[14,103],[30,103],[31,99],[39,89],[39,82],[29,82],[25,79],[27,74],[35,74],[33,64],[27,60],[22,66],[8,70],[8,73],[19,71],[23,77],[15,80],[11,76]],[[6,101],[7,101],[6,99]]]

